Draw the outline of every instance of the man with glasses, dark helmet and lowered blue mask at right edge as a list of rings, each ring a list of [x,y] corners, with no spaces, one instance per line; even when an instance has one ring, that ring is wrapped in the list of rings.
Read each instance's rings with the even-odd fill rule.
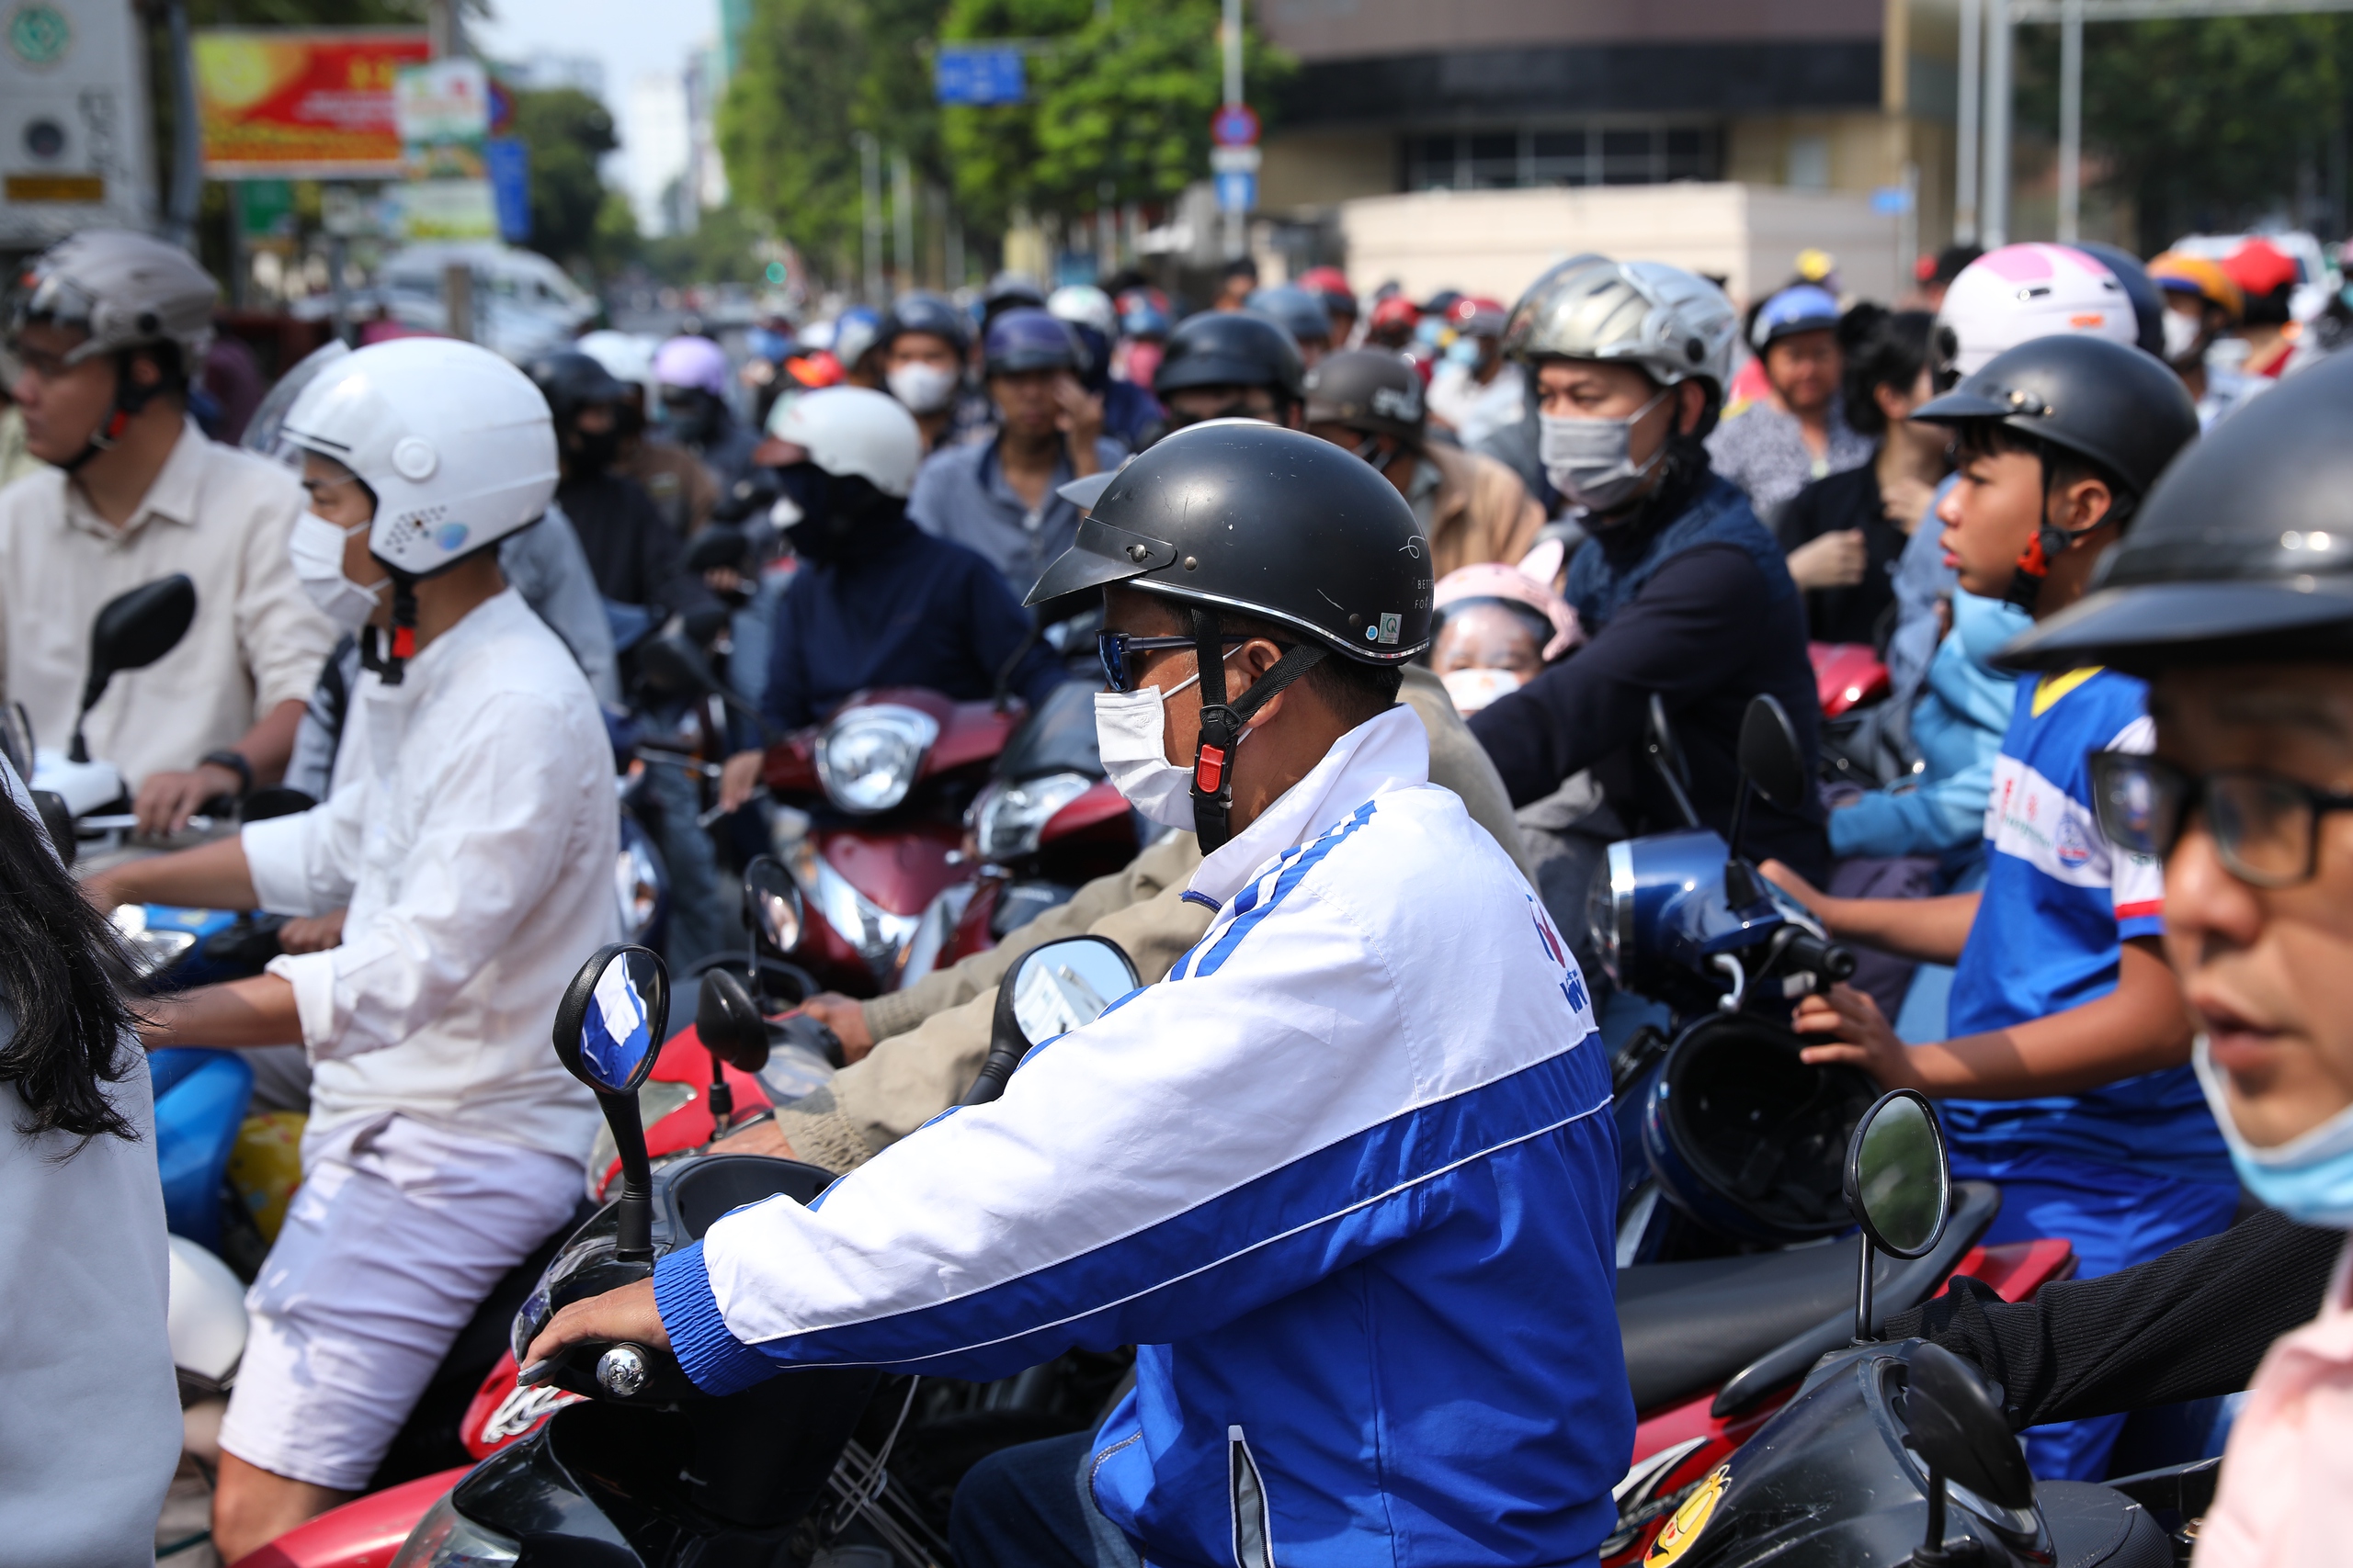
[[[2198,1027],[2191,1063],[2266,1213],[2113,1279],[1937,1312],[1922,1328],[2005,1387],[2068,1389],[2085,1408],[2245,1387],[2264,1340],[2287,1328],[2231,1427],[2200,1568],[2346,1561],[2348,423],[2353,362],[2282,381],[2261,418],[2224,423],[2165,477],[2099,592],[2002,654],[2026,670],[2099,663],[2151,682],[2155,750],[2092,757],[2092,790],[2108,837],[2165,865],[2165,952]]]

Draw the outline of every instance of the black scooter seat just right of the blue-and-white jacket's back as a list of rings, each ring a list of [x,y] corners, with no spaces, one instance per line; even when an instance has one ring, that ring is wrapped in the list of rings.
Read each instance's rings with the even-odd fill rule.
[[[1633,1408],[1649,1415],[1682,1403],[1833,1312],[1852,1314],[1859,1244],[1847,1237],[1786,1253],[1619,1269]]]

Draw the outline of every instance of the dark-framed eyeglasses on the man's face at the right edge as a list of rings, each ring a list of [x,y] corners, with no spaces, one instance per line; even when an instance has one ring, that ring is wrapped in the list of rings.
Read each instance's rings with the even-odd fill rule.
[[[2311,882],[2320,865],[2320,818],[2353,811],[2353,795],[2315,790],[2268,769],[2191,776],[2127,752],[2092,752],[2092,802],[2111,844],[2160,860],[2202,809],[2224,870],[2261,889]]]

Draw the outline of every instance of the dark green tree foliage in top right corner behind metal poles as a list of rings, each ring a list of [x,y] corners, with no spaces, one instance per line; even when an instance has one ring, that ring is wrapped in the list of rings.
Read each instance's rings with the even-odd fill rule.
[[[2059,120],[2059,31],[2021,31],[2021,139]],[[2353,16],[2212,16],[2085,28],[2087,165],[2144,254],[2264,216],[2341,228]],[[2087,167],[2087,174],[2092,169]]]

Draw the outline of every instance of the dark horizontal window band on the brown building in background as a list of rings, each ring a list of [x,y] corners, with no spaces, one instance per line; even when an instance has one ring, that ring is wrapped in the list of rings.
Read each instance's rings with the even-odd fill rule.
[[[1548,125],[1515,132],[1417,132],[1402,139],[1407,190],[1654,186],[1722,179],[1715,125]]]

